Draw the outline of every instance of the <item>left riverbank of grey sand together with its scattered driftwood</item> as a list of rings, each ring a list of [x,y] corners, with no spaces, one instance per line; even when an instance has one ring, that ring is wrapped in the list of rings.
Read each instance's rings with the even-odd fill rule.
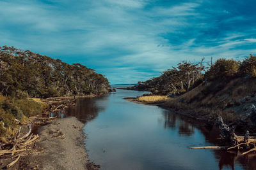
[[[19,136],[21,132],[22,135],[19,138],[1,145],[0,169],[98,169],[100,166],[88,160],[84,146],[84,124],[75,117],[48,118],[49,113],[62,112],[70,106],[76,106],[76,99],[33,99],[48,107],[35,117],[29,117],[26,124],[20,126],[22,130]],[[20,143],[24,144],[22,148],[19,148]]]

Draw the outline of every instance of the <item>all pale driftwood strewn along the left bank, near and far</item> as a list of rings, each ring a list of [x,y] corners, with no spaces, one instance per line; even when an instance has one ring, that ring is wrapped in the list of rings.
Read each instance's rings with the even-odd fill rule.
[[[67,109],[68,106],[76,105],[74,97],[51,97],[42,99],[42,101],[49,104],[49,108],[43,113],[43,117],[35,117],[31,121],[32,125],[22,125],[12,141],[0,145],[0,169],[10,169],[19,161],[20,157],[25,157],[33,153],[42,153],[35,146],[35,142],[39,140],[39,136],[38,134],[33,134],[33,129],[35,130],[33,127],[48,124],[52,119],[56,118],[44,117],[44,115],[62,111]]]

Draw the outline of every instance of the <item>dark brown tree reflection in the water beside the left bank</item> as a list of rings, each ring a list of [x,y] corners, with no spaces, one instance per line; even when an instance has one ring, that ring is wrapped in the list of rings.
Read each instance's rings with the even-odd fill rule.
[[[107,101],[108,97],[79,98],[77,99],[76,106],[67,109],[67,117],[76,117],[81,122],[86,123],[97,117],[99,111],[106,110],[108,106],[108,104],[106,104]]]

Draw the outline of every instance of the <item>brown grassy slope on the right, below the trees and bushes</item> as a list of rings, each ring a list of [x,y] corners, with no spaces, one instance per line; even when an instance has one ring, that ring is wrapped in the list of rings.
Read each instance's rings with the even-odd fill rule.
[[[179,97],[169,97],[163,105],[179,112],[184,111],[185,115],[198,120],[214,122],[220,115],[229,124],[254,128],[255,83],[255,78],[215,80],[207,84],[204,82]],[[255,132],[254,129],[250,131]]]

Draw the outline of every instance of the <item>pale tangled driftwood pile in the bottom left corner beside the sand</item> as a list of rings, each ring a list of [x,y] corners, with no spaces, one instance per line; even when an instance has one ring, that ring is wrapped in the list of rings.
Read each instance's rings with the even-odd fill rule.
[[[33,126],[47,124],[47,122],[54,118],[36,118],[33,121]],[[24,133],[24,131],[26,131],[26,133]],[[39,136],[38,134],[33,134],[32,131],[30,124],[23,125],[19,128],[16,137],[12,141],[1,145],[1,168],[11,168],[19,161],[20,157],[34,153],[42,153],[42,151],[38,151],[38,148],[35,146],[35,142],[39,140]]]

